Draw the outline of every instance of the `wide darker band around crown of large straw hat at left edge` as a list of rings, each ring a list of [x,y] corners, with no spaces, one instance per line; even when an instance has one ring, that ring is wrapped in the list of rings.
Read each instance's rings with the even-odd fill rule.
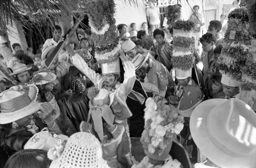
[[[25,93],[22,96],[15,97],[14,99],[1,103],[1,111],[13,112],[28,106],[31,102],[31,99]]]

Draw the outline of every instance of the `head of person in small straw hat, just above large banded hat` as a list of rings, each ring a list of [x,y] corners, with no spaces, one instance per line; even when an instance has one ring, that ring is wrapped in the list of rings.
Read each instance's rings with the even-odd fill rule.
[[[19,63],[16,64],[12,70],[13,73],[10,73],[10,76],[14,76],[15,80],[19,82],[20,85],[26,85],[30,82],[30,73],[32,67],[27,67],[25,64]]]

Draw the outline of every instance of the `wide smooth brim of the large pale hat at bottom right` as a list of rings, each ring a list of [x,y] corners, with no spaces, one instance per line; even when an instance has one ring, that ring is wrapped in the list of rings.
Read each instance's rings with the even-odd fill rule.
[[[193,111],[189,127],[191,136],[197,147],[210,161],[220,167],[250,167],[250,158],[230,156],[223,147],[218,147],[211,141],[206,127],[206,120],[210,110],[227,101],[226,99],[211,99],[200,103]],[[225,113],[225,111],[223,111]],[[221,131],[221,130],[220,130]],[[255,162],[255,161],[254,161]],[[246,166],[247,165],[247,166]]]

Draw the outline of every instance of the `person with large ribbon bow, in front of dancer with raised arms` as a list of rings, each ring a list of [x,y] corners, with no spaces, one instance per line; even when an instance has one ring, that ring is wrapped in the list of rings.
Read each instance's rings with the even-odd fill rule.
[[[87,122],[81,122],[80,131],[94,134],[102,143],[102,158],[112,168],[130,167],[129,143],[126,141],[124,127],[114,123],[115,116],[110,107],[110,95],[105,89],[89,102],[90,111]],[[126,157],[126,156],[127,157]],[[131,161],[130,161],[131,162]]]

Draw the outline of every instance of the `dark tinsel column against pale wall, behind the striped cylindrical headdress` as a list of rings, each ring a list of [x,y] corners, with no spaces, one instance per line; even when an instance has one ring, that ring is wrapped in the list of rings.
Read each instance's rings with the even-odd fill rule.
[[[174,22],[181,16],[181,5],[169,5],[167,7],[167,23],[174,25]]]

